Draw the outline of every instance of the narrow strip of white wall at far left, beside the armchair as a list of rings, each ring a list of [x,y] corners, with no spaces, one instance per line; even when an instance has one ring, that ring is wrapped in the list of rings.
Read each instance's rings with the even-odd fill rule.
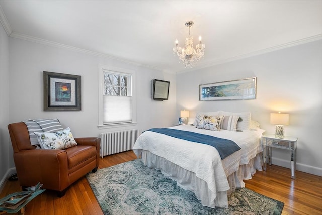
[[[5,178],[2,176],[9,175],[10,148],[8,135],[9,122],[9,40],[7,33],[0,25],[0,187]]]

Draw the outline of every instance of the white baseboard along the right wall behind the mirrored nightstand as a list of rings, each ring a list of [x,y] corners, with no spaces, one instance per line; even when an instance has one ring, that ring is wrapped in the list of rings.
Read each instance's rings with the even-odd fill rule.
[[[272,164],[289,168],[289,169],[291,168],[291,163],[289,160],[283,160],[280,158],[272,157]],[[322,168],[309,166],[298,162],[296,162],[296,170],[301,172],[306,172],[312,175],[322,176]]]

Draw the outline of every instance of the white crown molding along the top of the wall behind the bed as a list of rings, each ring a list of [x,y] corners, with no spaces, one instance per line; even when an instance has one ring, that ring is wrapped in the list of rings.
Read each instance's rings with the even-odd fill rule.
[[[178,71],[178,72],[176,72],[176,74],[186,73],[186,72],[194,71],[194,70],[197,70],[197,69],[203,69],[203,68],[207,68],[207,67],[211,67],[211,66],[215,66],[215,65],[219,65],[219,64],[224,64],[224,63],[228,63],[228,62],[232,62],[232,61],[235,61],[235,60],[240,60],[240,59],[244,59],[244,58],[248,58],[248,57],[254,57],[254,56],[257,56],[257,55],[261,55],[261,54],[265,54],[265,53],[269,53],[269,52],[289,48],[289,47],[292,47],[292,46],[297,46],[297,45],[313,42],[313,41],[316,41],[316,40],[322,40],[322,34],[318,34],[318,35],[315,35],[315,36],[303,38],[303,39],[292,41],[292,42],[289,42],[289,43],[284,43],[284,44],[281,44],[281,45],[277,45],[277,46],[273,46],[273,47],[270,47],[270,48],[258,50],[258,51],[255,51],[255,52],[250,52],[250,53],[238,55],[238,56],[231,57],[231,58],[214,60],[214,61],[212,61],[210,63],[201,64],[201,65],[199,65],[197,67],[194,67],[194,68],[189,68],[189,69]]]

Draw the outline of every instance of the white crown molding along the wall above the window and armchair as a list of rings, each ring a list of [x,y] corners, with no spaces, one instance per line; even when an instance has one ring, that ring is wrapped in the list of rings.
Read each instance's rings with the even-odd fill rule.
[[[87,49],[81,49],[81,48],[77,48],[77,47],[74,47],[74,46],[69,46],[69,45],[53,42],[53,41],[50,41],[50,40],[41,39],[41,38],[38,38],[38,37],[29,36],[29,35],[26,35],[26,34],[20,34],[20,33],[17,33],[17,32],[12,32],[9,36],[13,37],[13,38],[21,39],[21,40],[27,40],[27,41],[34,42],[34,43],[47,45],[47,46],[68,49],[68,50],[71,50],[71,51],[81,52],[81,53],[85,53],[85,54],[88,54],[88,55],[94,55],[94,56],[98,56],[98,57],[105,57],[105,58],[109,58],[109,59],[113,59],[113,60],[117,60],[117,61],[122,61],[124,63],[128,63],[128,64],[131,64],[131,65],[134,65],[134,66],[141,66],[141,67],[161,71],[160,68],[153,67],[153,66],[150,66],[150,65],[145,65],[145,64],[134,62],[134,61],[130,61],[130,60],[110,56],[110,55],[107,55],[107,54],[94,52],[94,51],[90,51],[90,50],[87,50]]]

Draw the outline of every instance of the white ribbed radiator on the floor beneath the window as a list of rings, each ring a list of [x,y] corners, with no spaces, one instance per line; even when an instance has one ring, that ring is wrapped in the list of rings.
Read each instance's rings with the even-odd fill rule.
[[[125,130],[117,132],[101,133],[101,157],[119,152],[132,150],[139,130]]]

